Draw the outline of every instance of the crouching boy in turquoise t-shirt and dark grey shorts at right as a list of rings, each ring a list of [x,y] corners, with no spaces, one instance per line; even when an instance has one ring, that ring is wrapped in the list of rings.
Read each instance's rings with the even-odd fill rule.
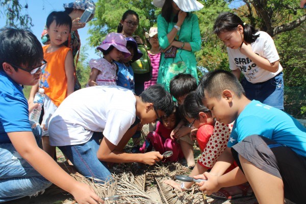
[[[304,203],[306,130],[293,117],[257,100],[249,100],[237,78],[216,70],[206,74],[196,90],[198,103],[225,124],[234,120],[230,139],[207,179],[198,185],[205,194],[249,182],[259,203],[284,203],[284,197]],[[239,167],[222,175],[236,161]]]

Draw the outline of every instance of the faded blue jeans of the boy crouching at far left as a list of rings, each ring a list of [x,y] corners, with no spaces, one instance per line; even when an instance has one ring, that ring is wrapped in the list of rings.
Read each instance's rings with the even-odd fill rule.
[[[39,142],[41,127],[35,127],[33,134]],[[0,155],[0,202],[37,195],[52,185],[18,154],[12,143],[0,143]]]

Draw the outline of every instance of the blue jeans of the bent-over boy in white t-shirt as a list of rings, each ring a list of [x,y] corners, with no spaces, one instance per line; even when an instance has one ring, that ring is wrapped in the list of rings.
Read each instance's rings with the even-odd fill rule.
[[[59,146],[59,149],[82,175],[104,183],[112,180],[112,174],[107,163],[97,158],[100,146],[99,139],[101,138],[103,138],[101,133],[94,133],[90,140],[84,144]]]

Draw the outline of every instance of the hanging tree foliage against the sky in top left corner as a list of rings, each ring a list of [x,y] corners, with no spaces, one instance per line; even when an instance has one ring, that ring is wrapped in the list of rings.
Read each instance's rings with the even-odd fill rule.
[[[27,14],[28,4],[21,5],[18,0],[0,0],[0,6],[0,18],[6,17],[7,26],[33,26],[32,18]]]

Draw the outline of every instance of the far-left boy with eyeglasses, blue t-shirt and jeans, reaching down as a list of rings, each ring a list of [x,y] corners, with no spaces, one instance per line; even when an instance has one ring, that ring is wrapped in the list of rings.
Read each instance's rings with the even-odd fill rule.
[[[22,86],[38,83],[42,60],[42,47],[33,33],[0,30],[0,202],[37,195],[54,183],[78,203],[103,203],[37,145],[41,129],[31,129]]]

